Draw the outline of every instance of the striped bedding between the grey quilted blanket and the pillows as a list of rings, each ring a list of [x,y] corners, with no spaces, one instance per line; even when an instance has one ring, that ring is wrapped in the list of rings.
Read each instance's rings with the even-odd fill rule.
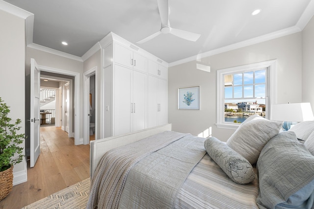
[[[256,168],[254,169],[256,172]],[[250,184],[236,184],[206,154],[179,190],[175,208],[258,209],[258,189],[257,177]]]

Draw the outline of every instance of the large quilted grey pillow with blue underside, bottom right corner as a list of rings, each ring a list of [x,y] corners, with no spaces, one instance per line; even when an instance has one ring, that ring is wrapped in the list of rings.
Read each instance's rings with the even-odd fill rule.
[[[314,156],[297,140],[294,132],[284,131],[270,139],[262,149],[257,169],[259,207],[313,207]]]

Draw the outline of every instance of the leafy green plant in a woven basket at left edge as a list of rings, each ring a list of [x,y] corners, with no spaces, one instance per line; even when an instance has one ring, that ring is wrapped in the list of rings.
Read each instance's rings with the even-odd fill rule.
[[[11,122],[9,106],[0,97],[0,200],[6,197],[13,187],[13,165],[24,159],[23,143],[25,134],[19,134],[21,119]]]

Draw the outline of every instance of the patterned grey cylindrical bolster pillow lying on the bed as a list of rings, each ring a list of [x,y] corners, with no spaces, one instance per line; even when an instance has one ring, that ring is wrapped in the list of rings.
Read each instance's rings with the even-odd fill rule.
[[[204,147],[210,158],[238,184],[248,184],[255,179],[255,173],[251,163],[231,149],[227,144],[209,137],[204,142]]]

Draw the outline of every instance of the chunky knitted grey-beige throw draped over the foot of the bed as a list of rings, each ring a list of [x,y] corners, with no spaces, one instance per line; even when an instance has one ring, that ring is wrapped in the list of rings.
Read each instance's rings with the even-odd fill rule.
[[[87,209],[117,208],[131,167],[149,154],[187,135],[167,131],[108,151],[91,181]]]

